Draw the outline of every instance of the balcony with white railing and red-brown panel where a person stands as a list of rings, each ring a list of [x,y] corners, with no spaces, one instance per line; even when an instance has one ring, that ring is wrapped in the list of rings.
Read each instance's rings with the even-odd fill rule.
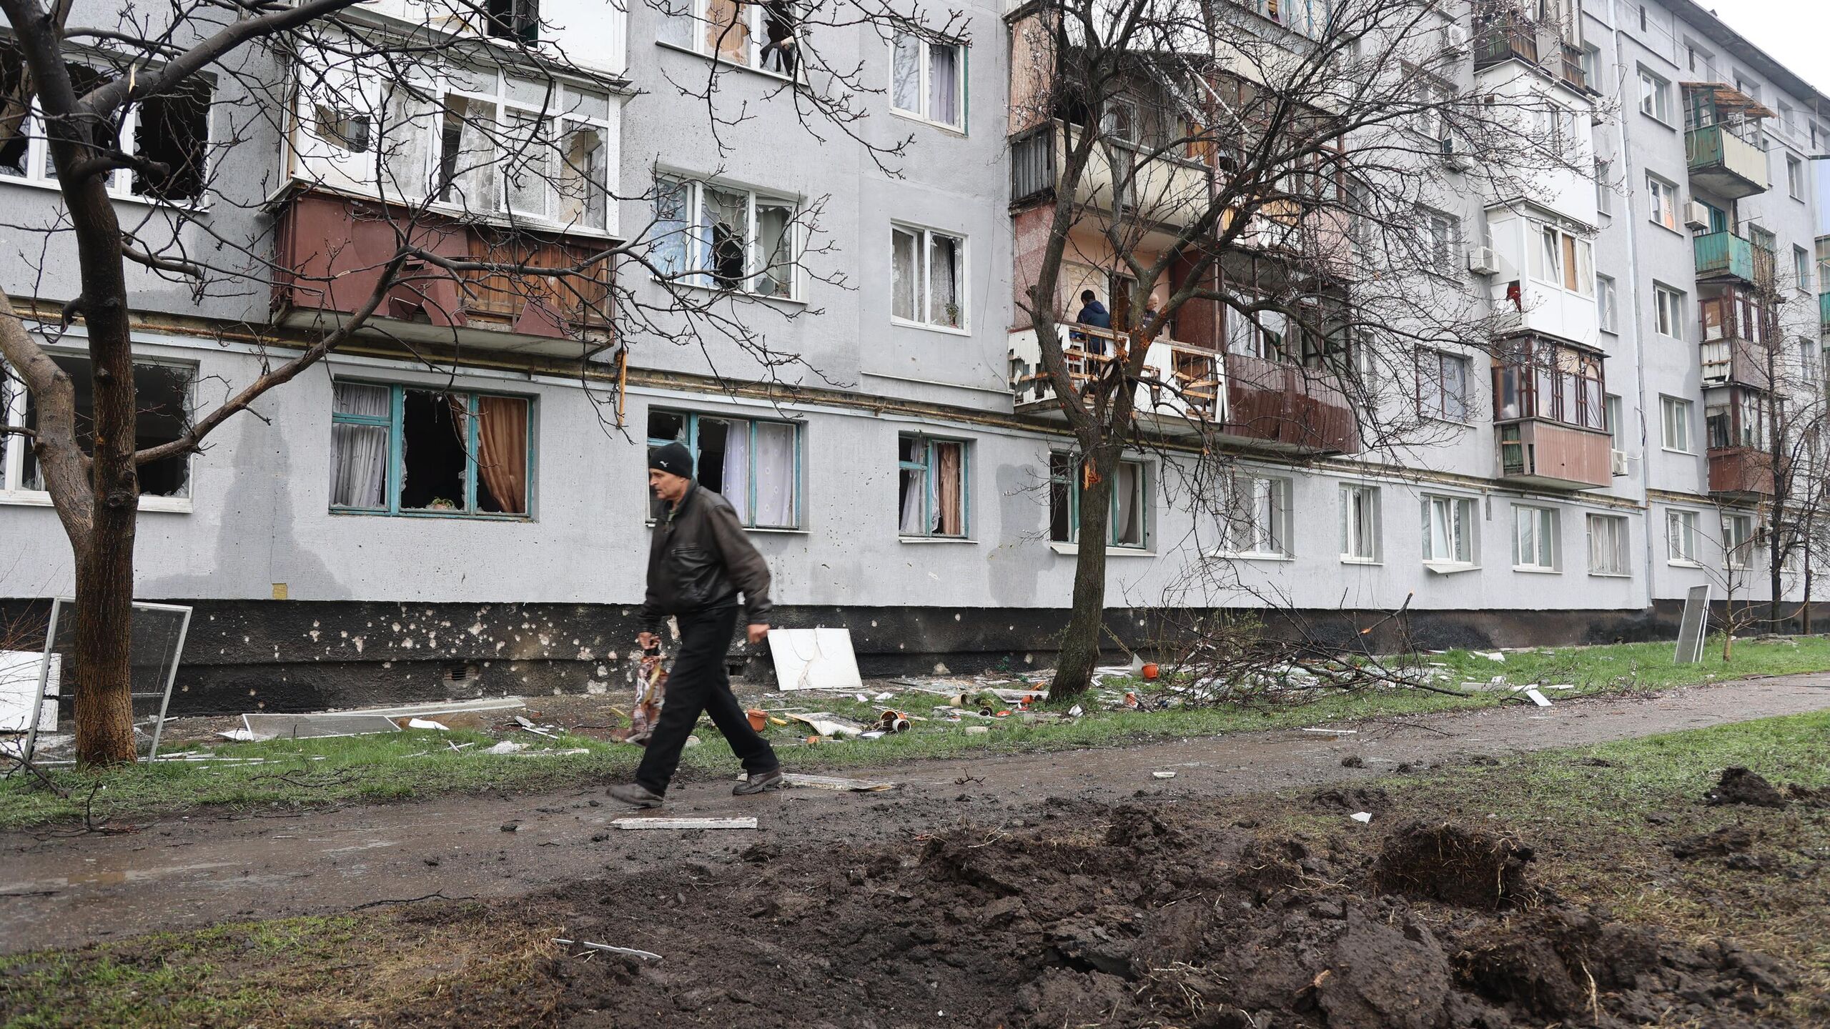
[[[1127,335],[1056,326],[1069,375],[1089,388],[1113,366]],[[1017,410],[1058,408],[1032,330],[1010,333],[1010,388]],[[1149,344],[1133,394],[1138,417],[1162,432],[1211,432],[1239,447],[1307,454],[1352,454],[1360,432],[1340,385],[1314,368],[1158,339]]]

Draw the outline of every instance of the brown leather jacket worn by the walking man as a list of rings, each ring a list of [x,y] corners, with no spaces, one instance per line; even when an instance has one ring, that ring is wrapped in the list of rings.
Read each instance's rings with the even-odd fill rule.
[[[688,615],[736,604],[748,608],[750,624],[769,621],[769,562],[743,535],[737,513],[723,496],[694,483],[655,522],[648,544],[648,597],[642,630],[659,632],[668,615]]]

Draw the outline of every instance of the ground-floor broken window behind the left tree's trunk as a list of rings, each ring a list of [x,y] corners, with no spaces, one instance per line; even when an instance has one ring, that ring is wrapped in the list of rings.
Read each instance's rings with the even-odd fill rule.
[[[51,361],[62,368],[75,388],[77,399],[77,441],[84,452],[93,449],[93,368],[86,355],[53,353]],[[0,423],[22,428],[38,427],[38,408],[24,385],[5,374],[0,383]],[[185,434],[190,425],[190,383],[196,377],[192,364],[170,364],[156,361],[134,363],[134,392],[139,408],[134,419],[134,449],[145,450],[170,443]],[[0,449],[0,494],[5,493],[44,493],[44,472],[31,447]],[[152,498],[190,496],[190,458],[165,458],[139,467],[139,493]]]

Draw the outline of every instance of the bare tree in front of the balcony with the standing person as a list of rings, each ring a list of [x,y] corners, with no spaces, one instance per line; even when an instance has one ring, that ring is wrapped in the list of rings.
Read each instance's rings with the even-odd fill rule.
[[[1012,18],[1019,403],[1058,410],[1078,443],[1050,476],[1078,507],[1058,696],[1098,659],[1127,447],[1177,434],[1301,461],[1427,443],[1431,417],[1466,416],[1442,377],[1464,397],[1462,357],[1523,306],[1460,286],[1453,212],[1590,174],[1587,119],[1534,71],[1471,77],[1469,29],[1504,49],[1548,27],[1535,60],[1572,24],[1338,0],[1277,26],[1259,7],[1039,0]],[[1076,324],[1083,289],[1111,328]]]

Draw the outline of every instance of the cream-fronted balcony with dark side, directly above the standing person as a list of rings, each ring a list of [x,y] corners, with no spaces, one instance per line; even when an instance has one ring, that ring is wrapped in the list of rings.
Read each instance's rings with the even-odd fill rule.
[[[1067,167],[1069,125],[1049,121],[1010,137],[1010,203],[1036,203],[1054,196],[1061,168]],[[1082,132],[1072,126],[1074,135]],[[1173,156],[1144,157],[1147,146],[1114,143],[1111,150],[1094,145],[1082,174],[1076,203],[1105,214],[1136,212],[1146,222],[1180,225],[1199,218],[1213,198],[1208,165]],[[1111,159],[1109,159],[1111,157]],[[1138,167],[1124,185],[1124,161]],[[1118,165],[1118,168],[1114,168]],[[1114,190],[1116,196],[1114,198]]]

